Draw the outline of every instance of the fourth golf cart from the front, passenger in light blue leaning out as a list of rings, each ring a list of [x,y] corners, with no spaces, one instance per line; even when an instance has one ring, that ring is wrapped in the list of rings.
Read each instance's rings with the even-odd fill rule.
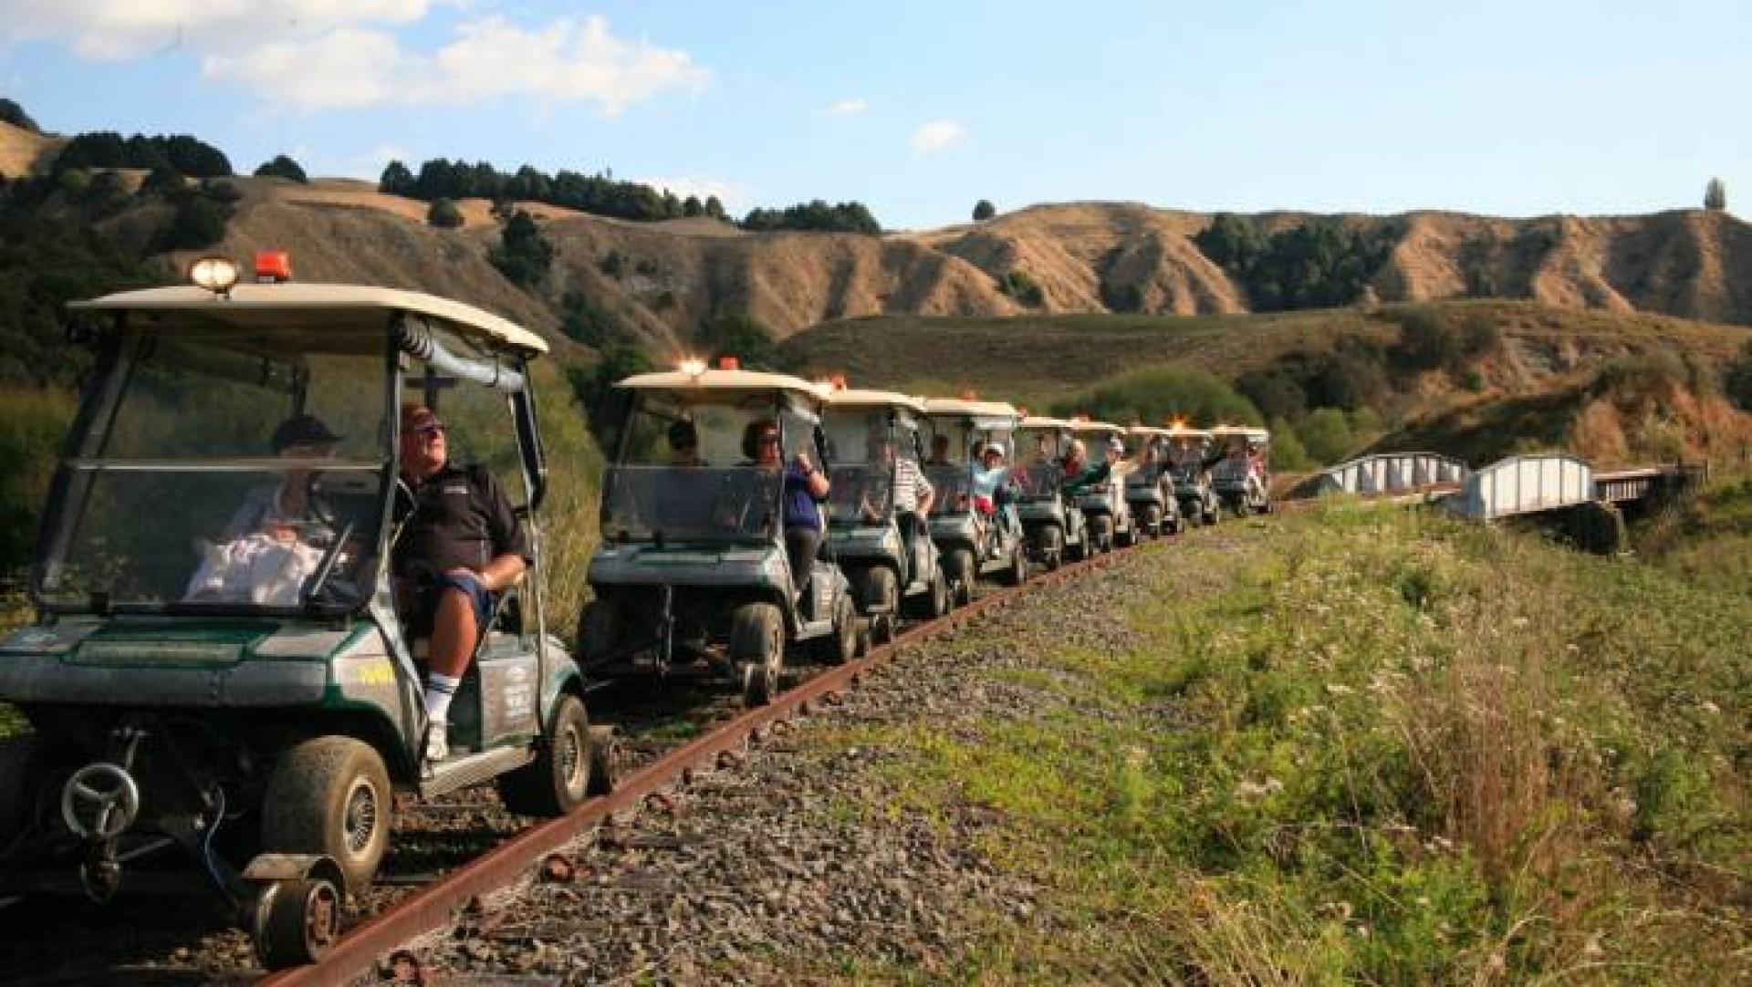
[[[1014,506],[1006,502],[1009,485],[999,485],[990,502],[974,494],[972,469],[990,444],[1009,444],[1021,415],[1000,401],[955,397],[925,399],[925,430],[930,458],[925,478],[937,490],[930,506],[930,541],[943,553],[955,606],[971,604],[974,581],[990,572],[1006,586],[1028,578],[1028,546]],[[1013,458],[1004,455],[1004,464]]]

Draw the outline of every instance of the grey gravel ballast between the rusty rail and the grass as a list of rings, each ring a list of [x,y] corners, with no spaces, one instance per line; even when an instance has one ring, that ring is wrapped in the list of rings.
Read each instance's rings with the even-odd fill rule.
[[[487,901],[415,943],[415,954],[440,978],[953,976],[974,959],[978,922],[1037,920],[1032,889],[967,849],[995,821],[978,805],[944,805],[937,819],[869,812],[890,805],[885,752],[823,737],[872,724],[971,730],[997,710],[1028,716],[1032,693],[993,682],[990,670],[1032,668],[1067,646],[1125,646],[1125,621],[1095,614],[1137,598],[1137,569],[1163,558],[1134,553],[909,646],[841,705],[773,732],[736,770],[699,775],[575,845],[571,875]]]

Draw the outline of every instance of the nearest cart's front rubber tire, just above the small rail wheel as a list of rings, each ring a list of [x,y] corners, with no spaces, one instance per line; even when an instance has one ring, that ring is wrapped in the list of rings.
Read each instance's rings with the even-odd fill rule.
[[[373,826],[363,845],[349,838],[349,803],[370,798]],[[363,807],[359,807],[363,808]],[[347,894],[371,884],[389,849],[394,793],[375,747],[352,737],[312,737],[284,754],[261,800],[261,849],[270,854],[324,854],[347,880]]]

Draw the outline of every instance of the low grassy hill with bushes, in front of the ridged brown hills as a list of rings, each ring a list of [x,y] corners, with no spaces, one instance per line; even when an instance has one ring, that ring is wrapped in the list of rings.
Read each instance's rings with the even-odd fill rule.
[[[1162,406],[1148,390],[1174,371],[1211,373],[1254,399],[1253,420],[1295,425],[1323,462],[1367,448],[1433,448],[1470,462],[1561,448],[1617,464],[1720,457],[1752,441],[1752,418],[1719,394],[1720,369],[1747,340],[1752,331],[1740,326],[1664,315],[1461,301],[1221,317],[855,318],[799,332],[781,352],[801,373],[839,371],[865,387],[972,388],[1028,408],[1104,413]],[[1286,387],[1286,408],[1267,401]],[[1134,399],[1116,402],[1120,392]],[[1323,408],[1349,424],[1333,425]]]

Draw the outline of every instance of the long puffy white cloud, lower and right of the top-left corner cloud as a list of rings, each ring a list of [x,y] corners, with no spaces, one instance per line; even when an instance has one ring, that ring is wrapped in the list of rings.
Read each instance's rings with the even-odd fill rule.
[[[214,56],[205,74],[301,110],[529,98],[594,103],[606,116],[669,91],[699,93],[711,80],[687,52],[617,38],[597,16],[533,32],[503,18],[470,21],[429,56],[403,51],[387,33],[336,30],[315,44]]]

